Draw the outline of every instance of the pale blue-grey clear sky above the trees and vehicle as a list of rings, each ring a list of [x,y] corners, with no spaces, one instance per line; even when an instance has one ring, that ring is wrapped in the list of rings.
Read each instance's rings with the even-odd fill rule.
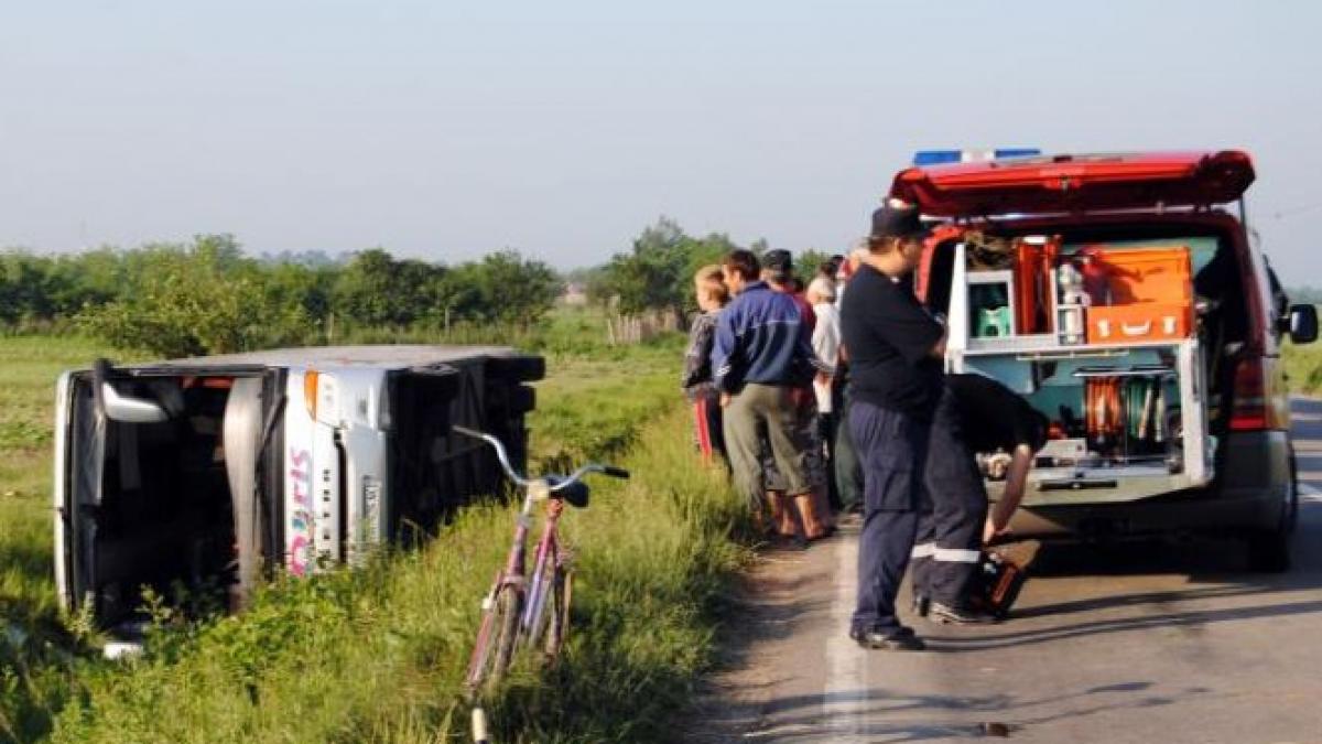
[[[1244,148],[1322,285],[1322,4],[49,0],[0,5],[0,246],[254,254],[691,234],[842,249],[920,148]]]

